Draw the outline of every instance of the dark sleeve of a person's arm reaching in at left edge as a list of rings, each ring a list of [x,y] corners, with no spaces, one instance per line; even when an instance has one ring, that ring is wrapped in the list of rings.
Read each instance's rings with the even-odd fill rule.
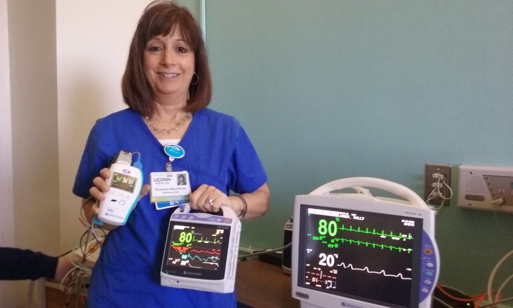
[[[0,280],[53,278],[57,257],[29,249],[0,247]]]

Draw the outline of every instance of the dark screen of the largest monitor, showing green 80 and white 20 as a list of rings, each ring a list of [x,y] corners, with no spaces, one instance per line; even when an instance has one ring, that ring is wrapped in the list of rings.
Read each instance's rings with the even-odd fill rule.
[[[298,286],[418,307],[423,220],[301,204]]]

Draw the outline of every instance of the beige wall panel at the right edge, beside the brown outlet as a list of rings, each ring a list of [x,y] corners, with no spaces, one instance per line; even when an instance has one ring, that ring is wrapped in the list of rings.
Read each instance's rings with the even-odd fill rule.
[[[458,206],[513,214],[513,167],[461,165]]]

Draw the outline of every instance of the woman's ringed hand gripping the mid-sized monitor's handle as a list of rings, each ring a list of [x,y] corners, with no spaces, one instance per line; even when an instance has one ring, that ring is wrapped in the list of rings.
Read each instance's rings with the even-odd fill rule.
[[[207,184],[192,192],[189,202],[192,209],[209,213],[218,212],[221,205],[230,206],[230,200],[223,191]]]

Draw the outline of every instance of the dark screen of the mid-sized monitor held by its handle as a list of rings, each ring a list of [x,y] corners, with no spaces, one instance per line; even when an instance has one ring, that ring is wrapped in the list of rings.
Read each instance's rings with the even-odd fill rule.
[[[181,277],[225,277],[230,226],[170,221],[162,272]]]

